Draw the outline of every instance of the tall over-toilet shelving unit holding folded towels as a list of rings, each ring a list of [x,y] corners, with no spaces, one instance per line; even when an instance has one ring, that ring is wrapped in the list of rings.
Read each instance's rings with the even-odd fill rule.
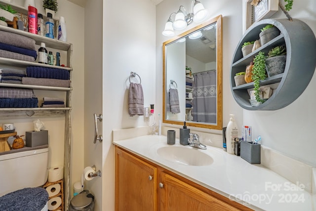
[[[3,3],[0,0],[0,3]],[[6,4],[10,4],[6,2]],[[16,6],[16,5],[15,5]],[[13,6],[12,6],[13,7]],[[18,7],[17,7],[18,8]],[[13,7],[16,9],[16,7]],[[19,9],[19,8],[18,8]],[[19,11],[16,9],[17,11]],[[24,12],[23,8],[22,11]],[[41,42],[44,42],[46,47],[53,48],[57,51],[65,51],[67,54],[67,63],[66,67],[61,66],[52,66],[41,64],[38,62],[27,62],[22,60],[8,59],[8,58],[0,58],[0,65],[4,65],[7,67],[22,67],[26,68],[27,66],[39,66],[39,67],[49,67],[49,68],[58,68],[67,70],[70,72],[70,81],[72,80],[72,53],[73,53],[73,44],[68,42],[61,42],[58,40],[42,37],[39,35],[35,35],[29,32],[0,26],[1,31],[11,32],[19,35],[23,35],[25,37],[32,38],[35,40],[37,45],[40,45]],[[70,147],[71,147],[71,93],[72,93],[72,83],[70,83],[70,87],[57,87],[57,86],[42,86],[42,85],[25,85],[25,84],[4,84],[0,83],[0,87],[14,87],[14,88],[30,88],[37,90],[46,90],[46,91],[61,91],[66,93],[65,108],[0,108],[0,116],[1,119],[8,118],[34,118],[34,117],[55,117],[63,115],[65,117],[65,139],[64,139],[64,182],[63,182],[63,190],[64,190],[64,202],[65,206],[68,206],[70,201]]]

